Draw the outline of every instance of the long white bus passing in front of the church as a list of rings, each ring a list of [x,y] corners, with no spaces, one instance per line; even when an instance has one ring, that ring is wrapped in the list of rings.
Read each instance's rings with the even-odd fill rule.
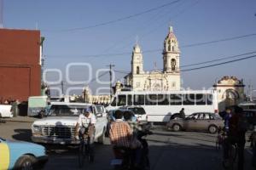
[[[120,91],[106,108],[116,110],[122,106],[141,106],[148,122],[169,122],[171,116],[184,108],[186,116],[195,112],[218,113],[216,90],[183,91]]]

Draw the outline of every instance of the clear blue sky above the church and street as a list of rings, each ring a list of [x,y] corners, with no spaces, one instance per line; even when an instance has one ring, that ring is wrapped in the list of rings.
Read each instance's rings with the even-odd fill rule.
[[[144,51],[144,71],[154,69],[154,63],[162,70],[161,50],[169,26],[173,26],[179,42],[181,65],[256,51],[256,35],[188,47],[256,34],[255,0],[3,0],[3,27],[40,30],[45,37],[46,79],[63,80],[65,89],[84,86],[70,85],[67,79],[79,83],[102,74],[100,80],[105,84],[94,81],[87,85],[94,93],[98,88],[108,89],[109,64],[119,71],[114,74],[114,82],[122,81],[125,73],[131,71],[131,52],[136,42]],[[255,54],[246,56],[252,55]],[[207,65],[228,60],[232,59]],[[71,63],[76,66],[67,70]],[[91,65],[91,71],[84,63]],[[247,87],[251,84],[256,89],[255,63],[254,57],[183,71],[183,88],[211,88],[221,77],[235,76],[243,79]],[[198,66],[202,65],[188,68]]]

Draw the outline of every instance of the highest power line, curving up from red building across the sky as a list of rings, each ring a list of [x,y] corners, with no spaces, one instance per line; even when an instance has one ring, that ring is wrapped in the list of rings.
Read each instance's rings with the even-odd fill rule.
[[[119,19],[116,19],[116,20],[109,20],[107,22],[98,23],[98,24],[92,25],[92,26],[76,27],[76,28],[61,29],[61,30],[42,30],[42,31],[79,31],[79,30],[87,30],[87,29],[90,29],[90,28],[96,28],[96,27],[99,27],[99,26],[107,26],[107,25],[110,25],[110,24],[113,24],[113,23],[116,23],[116,22],[119,22],[119,21],[122,21],[122,20],[128,20],[128,19],[140,16],[140,15],[143,15],[143,14],[150,13],[150,12],[158,10],[160,8],[165,8],[166,6],[170,6],[174,3],[178,3],[179,1],[181,1],[181,0],[172,1],[170,3],[165,3],[165,4],[160,5],[158,7],[155,7],[155,8],[149,8],[148,10],[144,10],[143,12],[140,12],[140,13],[131,14],[131,15],[128,15],[128,16],[125,16],[125,17],[122,17],[122,18],[119,18]]]

